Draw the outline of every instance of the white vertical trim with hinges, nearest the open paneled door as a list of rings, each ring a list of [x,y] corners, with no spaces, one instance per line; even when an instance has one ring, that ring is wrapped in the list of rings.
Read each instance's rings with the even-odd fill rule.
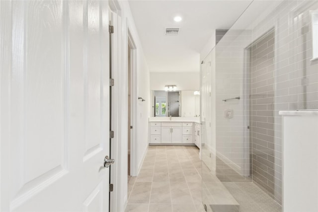
[[[115,85],[112,87],[112,129],[114,131],[114,138],[111,139],[111,157],[115,159],[115,163],[111,165],[110,169],[110,181],[114,185],[113,192],[110,193],[110,211],[109,212],[119,212],[124,211],[124,203],[127,200],[124,200],[125,193],[127,196],[127,174],[123,174],[123,170],[126,170],[127,173],[127,156],[122,151],[127,145],[123,142],[125,138],[127,139],[127,121],[125,122],[124,108],[126,105],[125,98],[127,97],[127,86],[123,86],[125,83],[125,77],[127,74],[123,73],[125,68],[124,55],[125,51],[125,31],[123,28],[126,26],[125,18],[121,17],[121,6],[120,2],[117,0],[110,0],[109,2],[109,12],[112,19],[111,25],[114,26],[114,34],[112,34],[112,78],[114,79]],[[126,41],[127,43],[127,41]],[[119,71],[118,71],[119,70]],[[126,80],[127,81],[127,80]],[[125,90],[126,89],[126,90]],[[127,101],[126,101],[127,102]],[[126,117],[127,118],[127,117]],[[123,128],[123,124],[125,128]],[[126,130],[126,133],[124,131]],[[127,142],[126,142],[127,143]],[[126,168],[125,168],[126,165]],[[125,192],[126,191],[126,192]]]

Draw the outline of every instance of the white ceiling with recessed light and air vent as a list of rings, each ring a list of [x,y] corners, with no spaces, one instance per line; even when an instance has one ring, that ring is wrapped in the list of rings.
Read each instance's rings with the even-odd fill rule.
[[[215,29],[229,29],[251,0],[130,0],[151,72],[199,72],[200,52]],[[173,17],[179,15],[181,22]],[[180,27],[165,36],[165,27]]]

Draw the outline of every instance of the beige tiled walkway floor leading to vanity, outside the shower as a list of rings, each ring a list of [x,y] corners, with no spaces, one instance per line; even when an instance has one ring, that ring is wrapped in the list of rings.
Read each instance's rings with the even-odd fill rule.
[[[126,212],[204,212],[201,161],[193,146],[149,146],[128,183]]]

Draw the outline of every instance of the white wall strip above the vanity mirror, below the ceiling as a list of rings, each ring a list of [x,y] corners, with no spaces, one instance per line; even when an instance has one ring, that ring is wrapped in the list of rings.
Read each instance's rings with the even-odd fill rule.
[[[176,85],[178,91],[199,90],[200,73],[150,73],[150,90],[162,91],[165,85]]]

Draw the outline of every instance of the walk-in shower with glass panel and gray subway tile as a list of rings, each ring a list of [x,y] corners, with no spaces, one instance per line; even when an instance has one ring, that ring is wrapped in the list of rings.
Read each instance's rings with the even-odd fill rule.
[[[318,1],[253,1],[202,61],[206,211],[282,211],[279,111],[318,108],[317,12]]]

